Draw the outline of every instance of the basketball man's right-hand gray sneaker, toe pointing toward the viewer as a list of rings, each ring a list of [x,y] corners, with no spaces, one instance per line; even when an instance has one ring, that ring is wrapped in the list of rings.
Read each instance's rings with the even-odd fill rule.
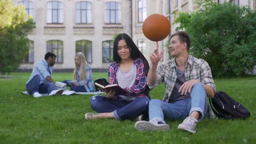
[[[181,124],[179,124],[178,129],[189,131],[194,134],[196,133],[197,122],[198,121],[195,118],[187,117]]]

